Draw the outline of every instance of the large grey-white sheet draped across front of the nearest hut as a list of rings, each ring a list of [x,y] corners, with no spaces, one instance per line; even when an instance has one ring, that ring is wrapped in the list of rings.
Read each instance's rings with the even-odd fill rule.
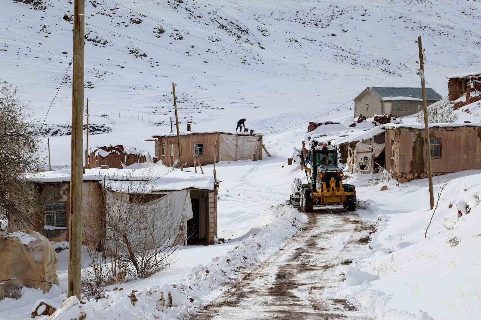
[[[106,193],[106,239],[110,252],[127,252],[127,234],[130,246],[138,251],[183,244],[187,220],[193,218],[189,190],[174,191],[146,203],[130,203],[129,195],[121,192]],[[123,227],[127,232],[123,232]]]

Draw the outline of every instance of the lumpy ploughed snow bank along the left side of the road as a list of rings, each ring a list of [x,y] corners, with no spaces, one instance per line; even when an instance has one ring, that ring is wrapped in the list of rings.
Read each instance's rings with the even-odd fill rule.
[[[152,285],[141,290],[118,289],[99,301],[85,304],[76,297],[70,297],[50,320],[81,319],[84,314],[88,319],[102,320],[174,320],[189,317],[215,298],[210,294],[221,284],[230,283],[233,278],[241,276],[240,271],[252,268],[257,259],[298,233],[307,222],[307,217],[291,206],[280,205],[266,210],[272,210],[275,215],[272,223],[244,239],[225,256],[216,257],[207,265],[201,264],[193,268],[187,280],[174,284]]]

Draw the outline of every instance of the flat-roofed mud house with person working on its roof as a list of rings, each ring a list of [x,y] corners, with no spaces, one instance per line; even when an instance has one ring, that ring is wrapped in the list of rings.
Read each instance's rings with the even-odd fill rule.
[[[187,167],[194,166],[194,156],[198,156],[202,165],[219,161],[262,160],[264,155],[263,135],[232,134],[228,132],[183,132],[180,134],[182,161]],[[152,135],[155,142],[155,156],[171,167],[178,156],[177,134],[166,133]],[[217,154],[214,154],[217,141]]]

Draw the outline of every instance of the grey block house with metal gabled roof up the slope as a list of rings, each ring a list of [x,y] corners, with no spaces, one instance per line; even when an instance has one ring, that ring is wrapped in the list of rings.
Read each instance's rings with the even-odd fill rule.
[[[442,97],[432,88],[426,88],[428,106]],[[360,114],[373,117],[375,114],[392,114],[402,117],[422,110],[421,88],[395,88],[372,86],[354,98],[354,117]]]

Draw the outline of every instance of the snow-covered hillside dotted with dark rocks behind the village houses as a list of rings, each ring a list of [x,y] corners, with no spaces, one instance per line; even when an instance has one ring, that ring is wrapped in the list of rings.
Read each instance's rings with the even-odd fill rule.
[[[0,77],[41,121],[72,59],[71,2],[2,3]],[[153,153],[143,139],[170,130],[172,82],[183,130],[191,121],[231,131],[247,118],[266,133],[333,109],[323,118],[350,115],[353,102],[336,107],[387,75],[380,85],[419,85],[419,35],[428,86],[446,95],[446,74],[481,63],[480,9],[442,0],[86,1],[85,98],[90,122],[112,127],[91,143]],[[48,125],[70,122],[71,77],[70,68]],[[51,137],[53,163],[69,162],[69,143]]]

